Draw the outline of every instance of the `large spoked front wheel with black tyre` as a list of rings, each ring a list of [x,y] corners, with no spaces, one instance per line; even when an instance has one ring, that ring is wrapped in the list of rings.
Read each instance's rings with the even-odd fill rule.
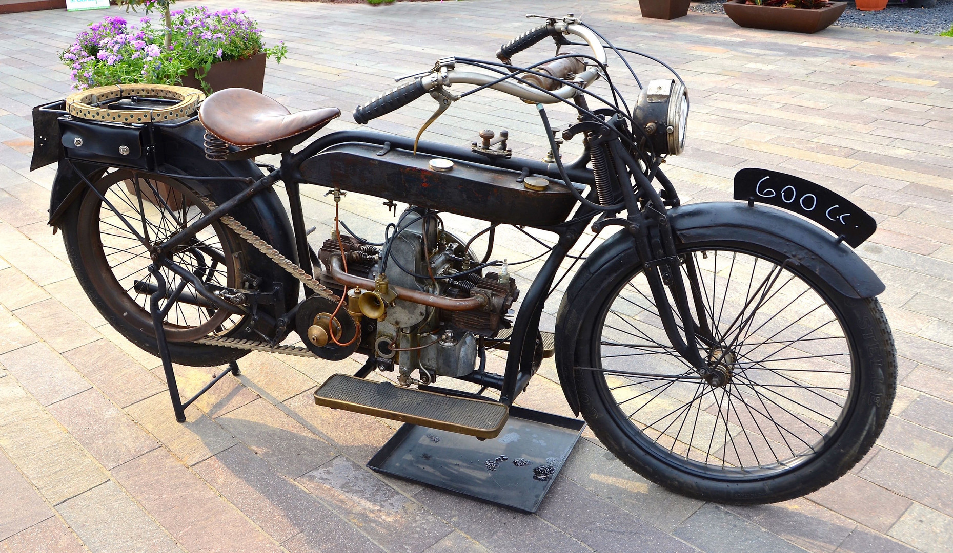
[[[669,343],[639,262],[607,264],[573,299],[585,312],[574,375],[586,422],[623,463],[701,500],[774,503],[837,480],[893,402],[878,301],[729,238],[681,244],[679,259],[686,285],[697,279],[693,318],[712,329],[700,354],[717,378]]]

